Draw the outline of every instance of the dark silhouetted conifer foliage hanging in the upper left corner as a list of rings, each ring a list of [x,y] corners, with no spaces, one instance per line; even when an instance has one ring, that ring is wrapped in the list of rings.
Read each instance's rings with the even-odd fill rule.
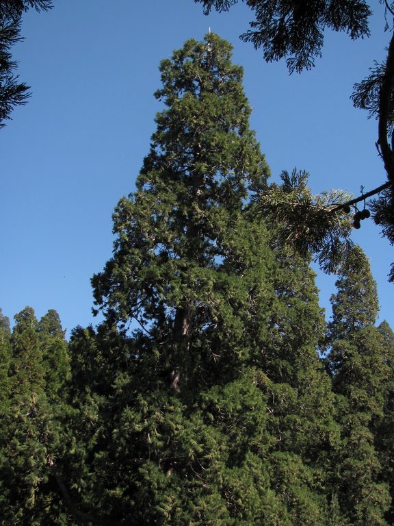
[[[29,8],[48,10],[52,0],[1,0],[0,2],[0,128],[16,105],[25,104],[29,98],[29,86],[14,77],[16,62],[10,48],[23,40],[21,16]]]

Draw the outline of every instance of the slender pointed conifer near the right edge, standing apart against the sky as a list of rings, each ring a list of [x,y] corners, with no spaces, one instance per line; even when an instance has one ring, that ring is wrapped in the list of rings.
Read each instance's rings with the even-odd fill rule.
[[[355,271],[363,261],[363,271]],[[342,443],[334,455],[334,490],[343,514],[354,526],[386,525],[390,497],[376,447],[376,429],[384,415],[390,370],[386,345],[373,324],[378,312],[376,284],[369,262],[343,268],[332,297],[328,364],[337,392]]]

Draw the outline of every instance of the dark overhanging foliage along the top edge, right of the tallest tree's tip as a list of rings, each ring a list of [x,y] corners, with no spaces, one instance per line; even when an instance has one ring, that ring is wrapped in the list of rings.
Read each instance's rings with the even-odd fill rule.
[[[194,0],[208,14],[214,8],[227,11],[238,0]],[[257,49],[263,47],[267,62],[287,58],[291,72],[309,69],[321,56],[324,29],[345,31],[350,38],[369,35],[369,5],[364,0],[300,2],[296,0],[248,0],[255,19],[241,35]]]

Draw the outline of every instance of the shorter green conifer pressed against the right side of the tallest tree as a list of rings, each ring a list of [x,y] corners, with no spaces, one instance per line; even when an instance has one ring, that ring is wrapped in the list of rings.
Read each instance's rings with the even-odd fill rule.
[[[278,240],[272,246],[279,268],[274,280],[276,301],[270,309],[263,371],[276,448],[270,463],[274,480],[283,479],[283,494],[291,502],[292,524],[326,524],[330,452],[338,447],[330,380],[317,355],[324,338],[324,317],[318,304],[315,274],[308,262]],[[286,480],[287,479],[287,480]]]

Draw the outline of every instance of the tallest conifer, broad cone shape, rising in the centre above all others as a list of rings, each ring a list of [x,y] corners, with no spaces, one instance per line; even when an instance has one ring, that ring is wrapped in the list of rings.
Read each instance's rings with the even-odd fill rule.
[[[75,475],[83,505],[101,514],[181,525],[242,524],[263,513],[261,491],[249,501],[243,494],[250,469],[269,487],[264,399],[250,366],[274,262],[262,222],[243,210],[268,169],[230,56],[211,34],[162,62],[157,97],[167,108],[138,190],[114,214],[114,258],[93,279],[107,323],[73,336],[91,429],[88,456],[80,447],[86,469]],[[116,336],[111,323],[125,331],[133,319],[132,338]],[[252,407],[247,423],[241,415]],[[250,436],[239,436],[242,420]]]

